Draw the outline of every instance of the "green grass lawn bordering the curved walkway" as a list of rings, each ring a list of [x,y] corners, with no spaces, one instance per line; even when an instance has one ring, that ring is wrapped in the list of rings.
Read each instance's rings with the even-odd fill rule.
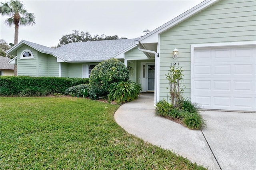
[[[1,169],[204,169],[114,121],[117,105],[71,97],[1,97]]]

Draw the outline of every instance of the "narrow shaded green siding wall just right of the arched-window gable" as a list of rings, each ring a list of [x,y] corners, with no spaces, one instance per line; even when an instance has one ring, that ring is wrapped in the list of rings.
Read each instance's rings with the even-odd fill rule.
[[[38,76],[48,76],[48,54],[38,52]]]

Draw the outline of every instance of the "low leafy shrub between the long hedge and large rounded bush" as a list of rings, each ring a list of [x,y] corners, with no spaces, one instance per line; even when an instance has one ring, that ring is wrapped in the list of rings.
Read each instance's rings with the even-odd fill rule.
[[[69,87],[64,91],[64,94],[76,97],[88,97],[88,84],[80,84]]]

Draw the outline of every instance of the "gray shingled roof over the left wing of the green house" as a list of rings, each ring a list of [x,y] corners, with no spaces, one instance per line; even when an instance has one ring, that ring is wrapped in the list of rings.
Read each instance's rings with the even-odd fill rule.
[[[135,40],[138,39],[68,43],[56,49],[22,40],[6,53],[17,55],[17,49],[26,44],[41,53],[51,54],[67,62],[103,61],[113,57],[116,53],[119,53],[127,47],[134,45]]]

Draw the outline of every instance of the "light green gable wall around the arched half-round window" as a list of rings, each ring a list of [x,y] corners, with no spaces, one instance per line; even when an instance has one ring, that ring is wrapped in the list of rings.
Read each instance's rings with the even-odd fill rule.
[[[25,49],[33,53],[34,59],[20,59],[20,55]],[[38,76],[38,51],[28,45],[23,45],[17,50],[17,64],[18,75]]]

